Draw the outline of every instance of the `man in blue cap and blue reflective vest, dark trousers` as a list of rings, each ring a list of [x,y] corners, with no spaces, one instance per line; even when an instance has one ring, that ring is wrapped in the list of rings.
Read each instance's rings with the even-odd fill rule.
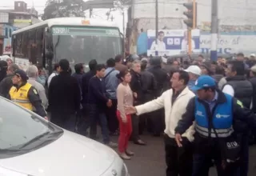
[[[241,141],[235,135],[236,123],[242,121],[256,128],[256,117],[242,106],[242,102],[216,90],[214,78],[210,76],[200,76],[192,89],[197,90],[198,95],[190,99],[186,113],[175,128],[176,142],[182,147],[182,134],[195,122],[192,175],[207,176],[212,159],[218,176],[235,175],[236,164],[239,165],[237,144]],[[236,146],[229,147],[233,142]],[[235,159],[230,161],[230,156],[232,158],[233,155]]]

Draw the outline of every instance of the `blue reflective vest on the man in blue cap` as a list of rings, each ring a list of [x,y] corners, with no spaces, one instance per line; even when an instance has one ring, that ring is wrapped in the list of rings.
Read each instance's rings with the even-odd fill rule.
[[[233,98],[225,94],[226,102],[218,103],[214,110],[212,123],[218,134],[219,138],[226,138],[233,133]],[[198,98],[195,98],[195,130],[198,134],[202,134],[205,137],[208,137],[209,130],[209,120],[206,107],[202,104],[202,102],[198,101]],[[211,129],[210,137],[216,138],[214,130]]]

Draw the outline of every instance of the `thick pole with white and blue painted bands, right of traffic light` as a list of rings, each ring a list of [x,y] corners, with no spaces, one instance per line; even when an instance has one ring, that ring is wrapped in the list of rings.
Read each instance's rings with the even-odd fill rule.
[[[211,0],[211,42],[210,42],[210,60],[217,61],[218,45],[218,0]]]

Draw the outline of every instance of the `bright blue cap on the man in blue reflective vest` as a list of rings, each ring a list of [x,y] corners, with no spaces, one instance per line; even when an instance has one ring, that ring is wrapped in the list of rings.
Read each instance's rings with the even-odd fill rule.
[[[191,90],[202,90],[204,88],[213,87],[213,86],[216,86],[214,78],[212,78],[208,75],[202,75],[195,82],[195,84],[191,88]]]

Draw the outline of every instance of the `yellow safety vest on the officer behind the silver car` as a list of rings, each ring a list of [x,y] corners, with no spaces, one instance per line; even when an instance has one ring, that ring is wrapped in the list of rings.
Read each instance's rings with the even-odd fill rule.
[[[16,87],[12,86],[9,92],[11,101],[28,110],[33,110],[33,106],[28,98],[28,92],[31,86],[30,83],[26,83],[24,86],[20,87],[18,91]]]

